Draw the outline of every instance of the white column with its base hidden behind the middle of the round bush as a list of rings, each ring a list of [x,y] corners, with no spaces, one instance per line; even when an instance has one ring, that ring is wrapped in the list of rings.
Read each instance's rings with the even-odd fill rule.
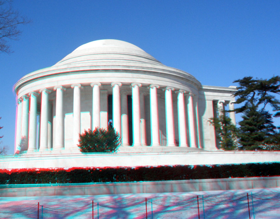
[[[93,82],[92,87],[92,115],[91,115],[91,129],[100,127],[100,86],[101,83]]]

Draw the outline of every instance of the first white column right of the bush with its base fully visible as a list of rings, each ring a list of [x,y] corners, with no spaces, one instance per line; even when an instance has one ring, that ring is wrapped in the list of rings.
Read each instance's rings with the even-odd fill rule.
[[[141,146],[141,133],[140,133],[140,93],[139,83],[132,83],[132,131],[133,131],[133,144],[132,146]]]

